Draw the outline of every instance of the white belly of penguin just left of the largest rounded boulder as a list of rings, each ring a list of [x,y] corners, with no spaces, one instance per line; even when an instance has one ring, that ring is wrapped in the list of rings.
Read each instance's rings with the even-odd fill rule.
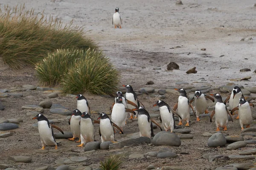
[[[138,125],[140,129],[140,136],[146,136],[151,139],[151,122],[148,122],[148,116],[138,115]]]

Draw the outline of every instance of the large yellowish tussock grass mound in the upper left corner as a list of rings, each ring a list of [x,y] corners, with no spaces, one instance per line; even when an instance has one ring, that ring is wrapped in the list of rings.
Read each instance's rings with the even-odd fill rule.
[[[52,16],[34,14],[34,10],[5,6],[0,10],[0,57],[12,68],[35,65],[49,51],[58,48],[97,48],[95,42],[84,36],[83,27],[72,21],[62,26]]]

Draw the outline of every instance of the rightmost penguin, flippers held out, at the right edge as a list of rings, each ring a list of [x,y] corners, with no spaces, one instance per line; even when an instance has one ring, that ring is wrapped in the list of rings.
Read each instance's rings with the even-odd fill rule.
[[[239,99],[239,107],[233,108],[231,111],[231,114],[233,114],[234,111],[239,110],[239,122],[241,125],[241,130],[244,129],[244,125],[246,126],[245,128],[250,127],[252,122],[252,112],[250,106],[254,108],[252,103],[247,102],[244,97],[242,97]]]

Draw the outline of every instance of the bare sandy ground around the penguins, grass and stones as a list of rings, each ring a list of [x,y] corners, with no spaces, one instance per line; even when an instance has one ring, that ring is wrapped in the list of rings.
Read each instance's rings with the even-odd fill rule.
[[[82,1],[82,0],[1,0],[1,7],[9,4],[26,4],[26,8],[34,8],[36,12],[53,15],[64,23],[74,20],[73,23],[84,26],[86,34],[99,43],[100,48],[107,54],[116,68],[122,75],[120,85],[131,84],[134,89],[145,86],[149,80],[154,82],[150,85],[154,88],[175,86],[177,81],[189,82],[189,85],[200,87],[212,85],[218,87],[233,82],[230,79],[251,76],[250,81],[235,82],[239,85],[256,86],[256,76],[253,71],[255,67],[255,41],[256,41],[256,16],[253,7],[253,0],[187,0],[182,6],[175,5],[174,0],[147,0],[147,1]],[[114,29],[111,17],[114,9],[119,7],[122,17],[122,29]],[[244,41],[241,41],[244,39]],[[180,48],[178,48],[179,46]],[[206,51],[201,51],[206,48]],[[223,57],[220,57],[224,55]],[[169,62],[176,62],[180,70],[167,71]],[[145,67],[145,68],[142,68]],[[161,70],[153,70],[160,67]],[[186,74],[192,67],[196,67],[197,74]],[[250,68],[249,72],[239,72],[242,68]],[[199,78],[204,77],[207,81],[201,82]],[[19,88],[20,85],[38,85],[33,69],[26,68],[21,71],[12,71],[0,62],[0,88]],[[182,87],[181,85],[176,85]],[[5,111],[0,111],[0,117],[21,118],[24,120],[20,127],[12,130],[15,134],[0,139],[1,163],[10,164],[19,170],[30,170],[37,167],[49,165],[55,167],[54,161],[61,157],[68,157],[71,152],[48,153],[46,155],[36,154],[35,150],[41,147],[37,128],[32,127],[35,121],[21,106],[28,104],[38,105],[46,94],[36,91],[22,91],[23,98],[4,98],[2,103],[6,106]],[[227,96],[227,94],[222,94]],[[93,110],[108,111],[113,99],[100,96],[87,96]],[[51,99],[53,103],[59,103],[73,110],[76,107],[76,99],[60,96]],[[100,102],[103,100],[104,102]],[[150,113],[152,105],[157,99],[140,96]],[[172,107],[177,101],[177,96],[166,95],[165,101]],[[49,119],[57,118],[57,124],[65,131],[69,131],[66,116],[59,116],[46,111]],[[159,121],[159,120],[158,120]],[[254,125],[253,125],[254,126]],[[135,127],[135,128],[134,128]],[[97,129],[98,127],[96,127]],[[88,156],[93,168],[99,167],[99,160],[103,160],[110,154],[122,156],[123,164],[121,169],[145,169],[149,164],[155,167],[163,165],[178,166],[183,169],[214,170],[216,167],[239,163],[221,159],[215,162],[208,162],[201,159],[204,153],[217,152],[220,154],[237,154],[238,150],[229,151],[225,147],[207,147],[208,137],[201,136],[204,131],[215,130],[215,123],[209,123],[209,119],[196,122],[192,117],[191,126],[193,139],[182,141],[180,147],[170,147],[178,154],[175,159],[128,159],[131,153],[146,153],[157,151],[161,147],[150,145],[137,145],[116,151],[96,151],[92,154],[84,154],[81,148],[77,148],[74,142],[61,139],[62,149],[71,149],[79,152],[79,156]],[[130,122],[125,129],[125,135],[138,131],[137,122]],[[159,130],[155,129],[155,133]],[[95,131],[98,133],[98,130]],[[225,135],[241,134],[238,120],[230,123]],[[116,135],[117,140],[127,139],[125,135]],[[245,136],[246,140],[253,139]],[[96,140],[99,136],[96,134]],[[247,145],[243,149],[255,147]],[[187,154],[188,153],[188,154]],[[32,156],[31,163],[13,163],[7,159],[8,156]],[[252,162],[252,161],[245,161]],[[82,164],[70,165],[70,169],[81,167]]]

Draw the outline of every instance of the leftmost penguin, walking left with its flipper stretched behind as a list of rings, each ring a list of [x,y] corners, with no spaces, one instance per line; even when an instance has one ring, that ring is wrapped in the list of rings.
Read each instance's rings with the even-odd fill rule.
[[[63,131],[58,126],[51,124],[43,114],[37,114],[32,119],[38,119],[38,131],[43,146],[41,149],[44,150],[44,147],[46,146],[55,146],[55,149],[57,149],[57,143],[52,128],[55,128],[64,134]]]

